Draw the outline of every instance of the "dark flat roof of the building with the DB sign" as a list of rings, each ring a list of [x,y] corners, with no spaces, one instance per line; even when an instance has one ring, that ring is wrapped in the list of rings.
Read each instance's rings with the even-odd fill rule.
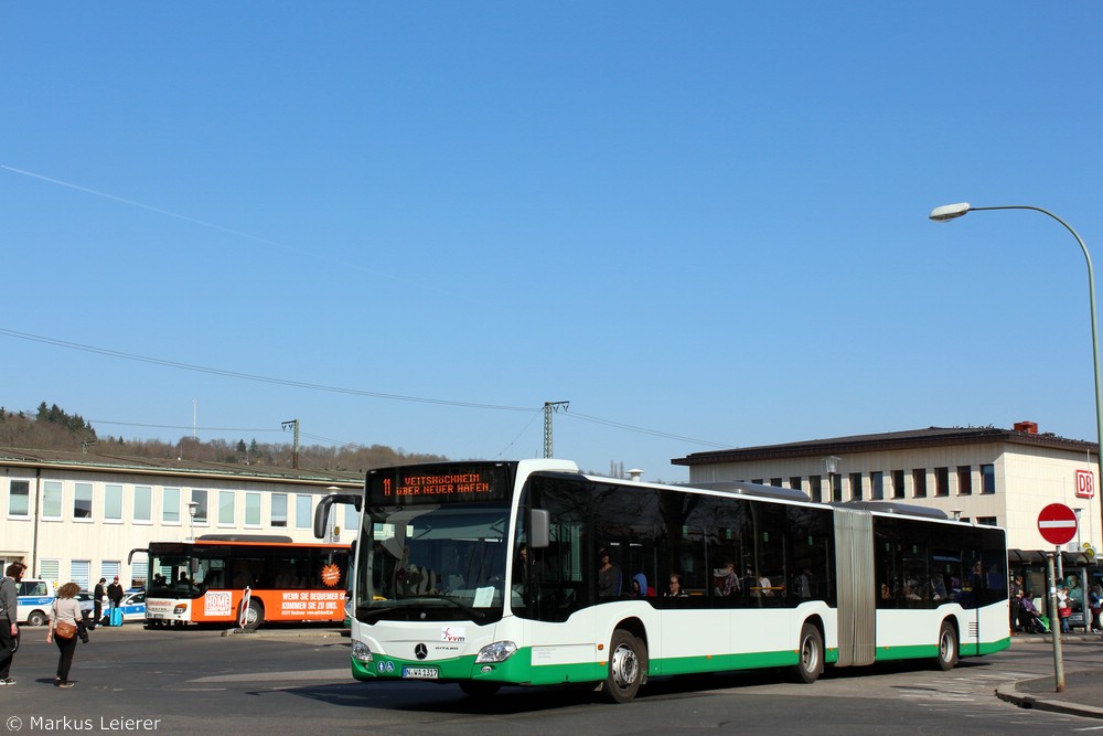
[[[1025,423],[1029,425],[1029,423]],[[1029,425],[1035,427],[1035,425]],[[989,445],[1010,442],[1031,445],[1048,449],[1073,452],[1097,452],[1099,445],[1082,439],[1067,439],[1051,433],[1038,434],[1036,429],[1000,429],[998,427],[928,427],[907,431],[889,431],[876,435],[853,435],[828,439],[812,439],[784,445],[761,445],[759,447],[733,448],[693,452],[684,458],[671,460],[676,466],[703,466],[718,462],[746,462],[749,460],[777,460],[818,455],[840,455],[844,452],[884,452],[889,450],[946,447],[957,445]]]

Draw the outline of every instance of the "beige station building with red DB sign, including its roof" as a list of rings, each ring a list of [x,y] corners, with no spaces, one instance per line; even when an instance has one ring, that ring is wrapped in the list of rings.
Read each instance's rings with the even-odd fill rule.
[[[1052,548],[1038,514],[1062,503],[1080,519],[1064,552],[1103,544],[1097,445],[1013,429],[941,428],[697,452],[673,460],[690,482],[743,480],[797,488],[814,501],[889,501],[1007,530],[1008,547]]]

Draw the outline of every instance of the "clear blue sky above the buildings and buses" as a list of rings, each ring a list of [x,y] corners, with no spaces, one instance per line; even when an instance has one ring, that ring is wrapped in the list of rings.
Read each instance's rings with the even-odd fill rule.
[[[1094,440],[1075,241],[928,214],[1047,207],[1103,259],[1101,35],[1091,2],[0,3],[0,404],[518,458],[569,401],[557,457],[665,480]]]

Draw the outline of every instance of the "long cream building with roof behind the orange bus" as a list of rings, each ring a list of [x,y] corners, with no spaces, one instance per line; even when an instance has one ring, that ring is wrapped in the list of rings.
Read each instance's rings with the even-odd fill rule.
[[[318,499],[363,488],[363,474],[232,463],[0,449],[0,563],[25,577],[92,589],[100,577],[144,585],[153,541],[266,534],[315,542]],[[330,541],[350,543],[352,505],[331,511]]]

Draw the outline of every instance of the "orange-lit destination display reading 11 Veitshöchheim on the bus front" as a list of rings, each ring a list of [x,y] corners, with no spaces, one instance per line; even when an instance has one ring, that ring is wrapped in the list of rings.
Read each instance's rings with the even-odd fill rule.
[[[488,466],[422,466],[367,476],[368,505],[470,503],[508,498],[506,468]]]

